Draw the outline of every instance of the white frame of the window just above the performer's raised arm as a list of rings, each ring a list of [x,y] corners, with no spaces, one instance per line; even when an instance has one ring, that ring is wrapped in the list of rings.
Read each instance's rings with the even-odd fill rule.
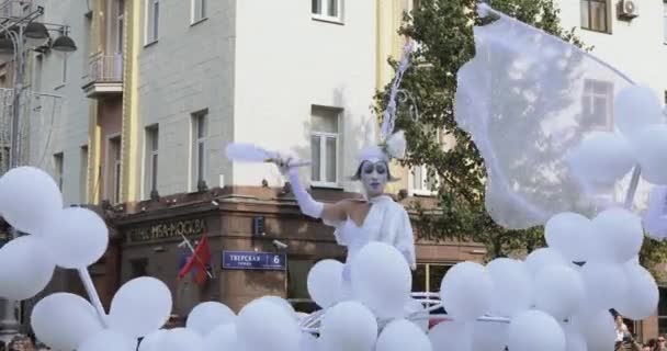
[[[336,113],[336,133],[332,132],[321,132],[321,131],[314,131],[313,128],[310,128],[310,134],[309,134],[309,143],[310,143],[310,150],[313,150],[313,137],[319,137],[319,180],[315,180],[313,179],[313,170],[310,170],[310,185],[316,186],[316,188],[340,188],[340,120],[341,120],[341,115],[342,115],[342,109],[340,107],[332,107],[332,106],[321,106],[321,105],[312,105],[310,107],[310,118],[313,118],[313,110],[314,109],[319,109],[319,110],[326,110],[326,111],[331,111],[334,113]],[[336,179],[331,182],[327,180],[327,139],[329,138],[334,138],[336,140],[336,150],[335,150],[335,155],[336,155]],[[313,156],[310,156],[310,158],[313,159]]]

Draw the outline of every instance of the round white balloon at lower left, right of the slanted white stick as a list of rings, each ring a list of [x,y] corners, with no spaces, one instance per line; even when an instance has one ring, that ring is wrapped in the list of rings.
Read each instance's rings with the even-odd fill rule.
[[[140,276],[123,284],[111,301],[109,325],[133,337],[149,335],[167,322],[171,292],[161,281]]]

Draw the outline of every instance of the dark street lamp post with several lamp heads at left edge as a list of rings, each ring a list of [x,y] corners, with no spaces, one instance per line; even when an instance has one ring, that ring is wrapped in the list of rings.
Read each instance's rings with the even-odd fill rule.
[[[67,36],[68,27],[65,25],[37,22],[37,18],[44,13],[44,8],[37,7],[36,10],[25,14],[23,18],[2,18],[4,25],[0,27],[0,54],[13,56],[14,87],[12,90],[12,120],[11,120],[11,146],[9,168],[19,166],[19,128],[21,123],[21,95],[23,93],[23,82],[25,73],[25,56],[29,49],[36,46],[45,47],[56,52],[71,53],[77,49],[75,42]],[[50,26],[50,29],[48,27]],[[60,35],[50,42],[49,31],[58,31]],[[50,45],[44,45],[48,43]],[[18,233],[11,228],[9,238],[13,239]],[[9,269],[9,268],[0,268]],[[4,308],[0,327],[0,339],[11,339],[19,332],[18,302],[3,299]]]

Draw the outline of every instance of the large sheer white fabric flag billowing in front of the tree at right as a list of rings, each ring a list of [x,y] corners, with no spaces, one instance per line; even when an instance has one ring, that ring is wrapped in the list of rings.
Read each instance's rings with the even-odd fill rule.
[[[474,30],[476,55],[457,73],[454,113],[484,157],[489,215],[521,229],[561,212],[592,215],[613,205],[621,180],[587,183],[572,172],[567,155],[591,133],[614,128],[611,111],[595,105],[595,91],[615,97],[632,81],[555,36],[481,7],[499,19]]]

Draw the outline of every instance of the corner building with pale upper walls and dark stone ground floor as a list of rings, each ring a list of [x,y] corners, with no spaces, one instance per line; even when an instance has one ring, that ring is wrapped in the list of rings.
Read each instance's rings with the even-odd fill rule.
[[[238,309],[267,294],[314,308],[307,272],[343,260],[343,248],[299,213],[274,166],[231,163],[225,146],[310,159],[302,178],[316,199],[359,196],[349,177],[375,141],[373,94],[393,78],[387,58],[403,52],[396,31],[411,1],[44,2],[44,20],[68,24],[79,49],[35,64],[34,84],[66,107],[31,135],[47,162],[30,163],[58,180],[68,205],[108,222],[110,248],[90,268],[103,304],[127,280],[152,275],[171,288],[177,320],[200,301]],[[408,186],[402,178],[392,192]],[[177,280],[183,239],[194,246],[204,235],[212,276]],[[420,241],[414,290],[436,292],[449,267],[484,254],[474,244]],[[278,263],[249,270],[235,257]],[[83,294],[76,276],[58,276],[53,290]]]

